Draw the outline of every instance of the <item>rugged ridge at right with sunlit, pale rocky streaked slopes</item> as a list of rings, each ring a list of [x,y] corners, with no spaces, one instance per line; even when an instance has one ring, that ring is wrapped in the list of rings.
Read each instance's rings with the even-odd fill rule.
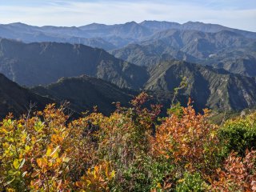
[[[162,62],[150,70],[146,90],[172,91],[181,81],[189,79],[182,94],[190,96],[198,108],[242,110],[256,106],[256,81],[225,70],[214,70],[187,62]]]

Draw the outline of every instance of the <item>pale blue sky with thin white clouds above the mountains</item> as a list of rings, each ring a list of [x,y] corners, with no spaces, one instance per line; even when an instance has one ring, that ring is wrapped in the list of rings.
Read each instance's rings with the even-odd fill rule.
[[[256,0],[0,0],[0,23],[84,26],[158,20],[256,32]]]

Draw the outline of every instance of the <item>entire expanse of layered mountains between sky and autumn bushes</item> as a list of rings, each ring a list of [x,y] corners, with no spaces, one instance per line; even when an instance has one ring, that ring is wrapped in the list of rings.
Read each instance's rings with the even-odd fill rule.
[[[127,104],[142,90],[169,106],[184,76],[182,103],[191,97],[197,110],[243,110],[256,106],[256,33],[202,22],[12,23],[0,25],[0,73],[33,86],[2,76],[9,85],[0,87],[2,115],[22,114],[32,100],[39,108],[69,100],[78,114],[93,106],[109,114],[112,102]],[[12,94],[17,89],[21,98]]]

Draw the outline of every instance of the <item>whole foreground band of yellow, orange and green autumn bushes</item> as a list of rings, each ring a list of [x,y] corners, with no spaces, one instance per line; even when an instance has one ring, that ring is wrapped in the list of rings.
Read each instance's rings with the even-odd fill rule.
[[[70,120],[54,105],[9,115],[0,123],[1,190],[255,190],[256,114],[219,127],[191,102],[158,118],[161,106],[146,108],[147,98],[117,103],[109,117],[95,111]]]

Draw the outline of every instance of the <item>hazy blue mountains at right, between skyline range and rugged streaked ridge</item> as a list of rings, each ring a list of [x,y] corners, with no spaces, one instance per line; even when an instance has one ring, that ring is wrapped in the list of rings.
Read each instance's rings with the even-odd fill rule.
[[[235,74],[256,75],[256,40],[222,30],[165,30],[146,41],[110,51],[117,58],[153,66],[171,58],[222,68]]]

